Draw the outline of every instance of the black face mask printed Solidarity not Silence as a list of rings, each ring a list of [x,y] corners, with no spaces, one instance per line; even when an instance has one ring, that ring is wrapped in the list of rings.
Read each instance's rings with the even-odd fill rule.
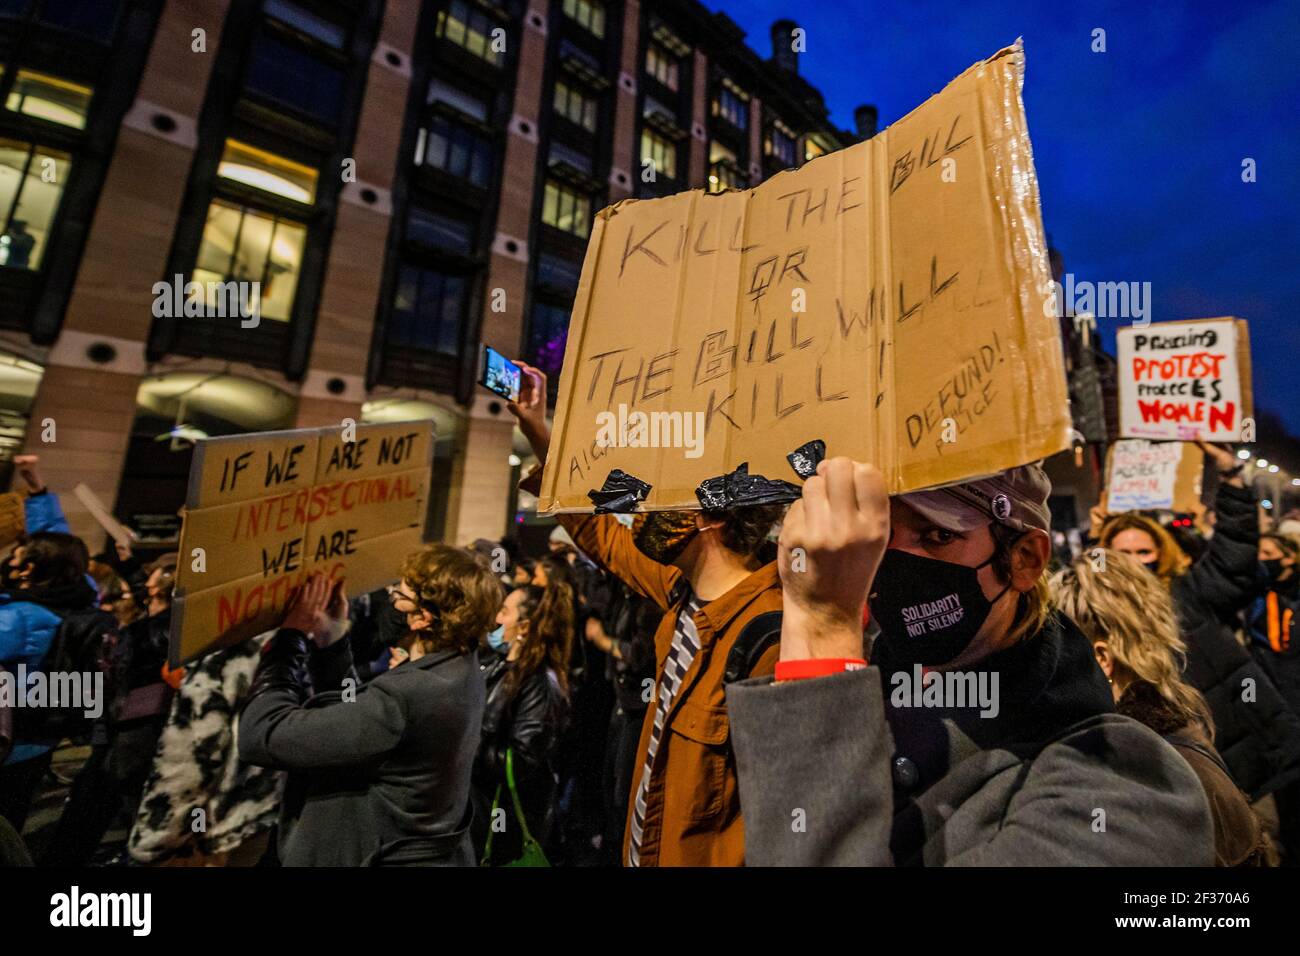
[[[979,570],[992,561],[991,554],[984,563],[967,567],[887,550],[871,585],[870,606],[890,661],[935,667],[962,653],[1011,588],[1008,584],[992,601],[984,597]]]

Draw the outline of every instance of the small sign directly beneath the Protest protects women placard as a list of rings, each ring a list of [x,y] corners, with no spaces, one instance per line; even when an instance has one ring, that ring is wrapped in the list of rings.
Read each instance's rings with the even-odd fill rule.
[[[1196,511],[1204,454],[1180,441],[1126,438],[1106,457],[1106,511]]]

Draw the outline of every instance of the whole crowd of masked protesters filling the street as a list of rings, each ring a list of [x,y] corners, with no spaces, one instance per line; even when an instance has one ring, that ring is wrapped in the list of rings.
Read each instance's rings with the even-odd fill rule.
[[[91,557],[18,458],[0,667],[101,675],[104,706],[0,704],[0,862],[1291,865],[1300,522],[1202,449],[1192,538],[1098,514],[1062,555],[1039,466],[890,498],[831,458],[789,506],[566,514],[545,554],[434,544],[364,594],[313,575],[177,670],[176,555]]]

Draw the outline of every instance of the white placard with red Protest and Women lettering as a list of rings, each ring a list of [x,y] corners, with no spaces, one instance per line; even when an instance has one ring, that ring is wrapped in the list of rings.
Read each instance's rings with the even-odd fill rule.
[[[1152,323],[1115,332],[1119,434],[1166,441],[1240,441],[1252,414],[1244,319]]]

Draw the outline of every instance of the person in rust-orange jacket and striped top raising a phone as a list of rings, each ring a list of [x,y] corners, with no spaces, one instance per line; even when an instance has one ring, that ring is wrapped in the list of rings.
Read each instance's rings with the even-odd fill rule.
[[[510,410],[545,463],[546,373],[519,363],[524,385]],[[534,471],[521,486],[536,489]],[[728,656],[760,614],[781,609],[776,564],[758,550],[781,507],[654,511],[634,531],[615,515],[560,515],[584,554],[659,605],[658,679],[637,747],[624,835],[629,866],[738,866],[744,825],[728,745]],[[770,674],[775,648],[750,672]]]

